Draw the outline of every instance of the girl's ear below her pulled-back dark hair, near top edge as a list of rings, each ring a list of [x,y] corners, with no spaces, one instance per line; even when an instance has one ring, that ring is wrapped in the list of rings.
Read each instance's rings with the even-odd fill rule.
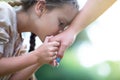
[[[38,0],[38,2],[35,5],[35,12],[40,17],[46,10],[45,1]]]

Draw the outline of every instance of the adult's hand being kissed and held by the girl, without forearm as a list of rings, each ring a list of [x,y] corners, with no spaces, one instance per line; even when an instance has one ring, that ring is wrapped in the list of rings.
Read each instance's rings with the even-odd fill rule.
[[[60,58],[63,57],[65,50],[74,42],[75,38],[76,34],[74,34],[72,30],[66,30],[50,39],[50,41],[60,42],[60,47],[57,54],[57,60],[59,62]]]

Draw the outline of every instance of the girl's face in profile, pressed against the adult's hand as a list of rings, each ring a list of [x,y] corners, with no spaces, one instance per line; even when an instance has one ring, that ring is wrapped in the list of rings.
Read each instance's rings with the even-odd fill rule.
[[[35,23],[37,35],[44,41],[46,36],[62,32],[77,13],[78,10],[73,5],[64,5],[62,8],[55,8],[42,14]]]

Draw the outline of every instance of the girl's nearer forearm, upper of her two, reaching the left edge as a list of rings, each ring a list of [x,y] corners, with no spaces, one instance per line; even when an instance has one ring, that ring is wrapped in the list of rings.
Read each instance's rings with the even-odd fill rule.
[[[28,61],[29,60],[29,61]],[[0,76],[15,73],[37,63],[33,54],[0,59]]]

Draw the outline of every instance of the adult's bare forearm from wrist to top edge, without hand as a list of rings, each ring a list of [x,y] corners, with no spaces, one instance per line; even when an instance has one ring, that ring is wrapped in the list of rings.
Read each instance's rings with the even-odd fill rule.
[[[116,0],[87,0],[85,6],[80,10],[68,29],[78,34],[103,14],[115,1]]]

